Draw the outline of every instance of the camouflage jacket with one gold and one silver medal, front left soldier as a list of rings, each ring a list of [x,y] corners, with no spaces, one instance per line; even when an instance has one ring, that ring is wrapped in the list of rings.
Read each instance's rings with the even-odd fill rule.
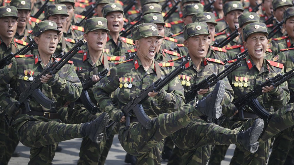
[[[55,58],[53,57],[52,60],[55,60]],[[18,55],[16,58],[13,58],[12,62],[0,71],[0,105],[6,107],[11,101],[18,100],[21,92],[31,84],[32,79],[30,77],[35,78],[44,68],[45,66],[41,58],[39,58],[39,53]],[[9,97],[6,84],[10,84],[11,88],[16,92],[16,100]],[[61,108],[66,101],[75,101],[81,95],[82,85],[74,71],[72,62],[69,61],[53,78],[50,78],[47,83],[42,84],[40,90],[46,97],[56,101],[56,110]],[[48,109],[41,106],[34,99],[29,102],[29,105],[32,111],[48,112]],[[21,104],[20,109],[25,111],[24,104]],[[46,118],[41,116],[35,117],[46,120]],[[36,120],[35,117],[19,114],[12,124]]]

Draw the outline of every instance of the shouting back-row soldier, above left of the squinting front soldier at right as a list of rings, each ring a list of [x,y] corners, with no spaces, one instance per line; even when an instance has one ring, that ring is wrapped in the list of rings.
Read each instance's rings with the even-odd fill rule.
[[[226,4],[224,4],[223,7],[223,12],[224,12],[224,19],[225,22],[228,24],[228,28],[220,33],[216,33],[216,42],[219,43],[223,41],[225,38],[230,36],[230,33],[236,30],[235,25],[237,28],[239,27],[238,24],[238,17],[243,14],[243,6],[240,1],[230,1]],[[232,46],[232,45],[237,45],[241,44],[242,40],[239,36],[234,38],[231,42],[229,42],[227,45]]]

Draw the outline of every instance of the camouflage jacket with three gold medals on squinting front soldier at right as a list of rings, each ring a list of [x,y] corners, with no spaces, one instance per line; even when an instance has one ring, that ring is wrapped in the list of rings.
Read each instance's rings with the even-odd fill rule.
[[[228,61],[227,65],[230,65],[231,62],[233,61]],[[241,62],[241,64],[242,66],[228,75],[228,80],[235,94],[234,100],[250,92],[256,85],[263,83],[265,78],[273,78],[274,76],[284,72],[283,64],[265,60],[265,58],[263,67],[261,67],[259,71],[250,58],[250,55],[248,55],[245,60]],[[260,105],[268,111],[270,111],[271,106],[274,108],[285,106],[289,101],[288,83],[285,82],[271,92],[260,95],[257,100]],[[232,110],[233,108],[230,108],[230,111]],[[251,110],[247,105],[245,106],[245,111],[253,113],[253,110]],[[230,113],[233,114],[233,112]]]

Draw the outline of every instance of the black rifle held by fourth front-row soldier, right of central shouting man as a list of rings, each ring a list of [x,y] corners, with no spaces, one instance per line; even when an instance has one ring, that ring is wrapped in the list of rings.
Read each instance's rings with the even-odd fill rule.
[[[244,58],[246,58],[246,55],[238,56],[237,60],[232,63],[230,66],[225,68],[225,70],[221,71],[220,73],[216,74],[213,73],[212,75],[208,76],[207,78],[203,79],[201,82],[193,85],[191,87],[191,90],[185,93],[185,99],[186,104],[192,100],[197,95],[197,91],[200,89],[206,89],[208,87],[212,87],[215,85],[219,80],[222,80],[223,78],[227,77],[228,74],[232,73],[235,69],[239,68],[242,64],[240,63]]]

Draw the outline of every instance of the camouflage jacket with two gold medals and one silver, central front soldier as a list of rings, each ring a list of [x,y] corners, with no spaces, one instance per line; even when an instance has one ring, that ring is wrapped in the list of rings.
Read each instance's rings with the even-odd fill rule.
[[[148,85],[158,80],[155,64],[153,60],[151,67],[145,71],[141,61],[136,56],[133,60],[125,61],[125,63],[113,67],[109,76],[104,77],[99,83],[94,85],[94,96],[101,103],[100,108],[108,112],[114,121],[120,121],[124,115],[121,111],[123,106],[133,100],[136,95],[139,95]],[[159,68],[161,76],[165,77],[173,70],[173,67],[163,67],[163,64],[159,63],[159,66],[162,66]],[[118,108],[109,97],[109,94],[117,88],[119,88],[117,96]],[[185,102],[184,89],[178,77],[173,79],[163,89],[166,91],[163,92],[163,95],[148,97],[148,99],[142,102],[143,109],[149,117],[156,117],[169,110],[178,110],[178,108],[183,106]]]

